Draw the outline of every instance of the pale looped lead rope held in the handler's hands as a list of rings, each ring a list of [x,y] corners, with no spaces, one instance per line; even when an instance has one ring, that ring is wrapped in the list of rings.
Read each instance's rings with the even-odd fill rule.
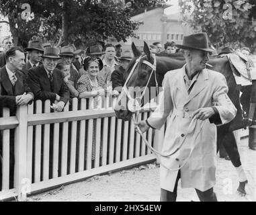
[[[132,120],[133,120],[134,124],[135,124],[135,122],[138,122],[138,114],[139,114],[139,112],[140,112],[139,110],[136,112],[136,116],[135,116],[135,117],[134,117],[134,115],[132,115]],[[191,127],[191,125],[193,124],[192,122],[194,122],[194,120],[196,120],[195,117],[191,120],[191,122],[190,122],[190,124],[189,124],[189,127],[187,128],[187,131],[188,131],[187,134],[190,133],[189,130],[191,129],[190,127]],[[198,133],[196,134],[196,138],[198,138],[198,135],[200,134],[200,132],[201,132],[201,130],[202,130],[202,127],[204,126],[204,122],[205,122],[205,121],[202,122],[202,125],[200,126],[200,130],[199,130]],[[135,124],[135,126],[136,126],[136,128],[137,128],[137,130],[138,130],[140,136],[142,137],[142,140],[144,140],[146,146],[148,146],[148,148],[151,150],[151,152],[153,152],[153,153],[157,156],[157,158],[160,158],[160,157],[169,157],[169,156],[171,156],[171,155],[174,155],[175,153],[177,153],[178,150],[181,149],[181,147],[183,146],[183,144],[184,144],[184,142],[185,142],[185,139],[187,138],[187,134],[185,134],[185,137],[183,138],[183,140],[182,140],[180,146],[179,146],[173,153],[169,153],[168,155],[163,155],[163,154],[160,153],[158,150],[155,150],[155,148],[153,148],[150,144],[148,144],[148,141],[146,140],[146,137],[144,136],[144,134],[142,133],[142,131],[140,130],[140,128],[139,128],[136,124]],[[195,138],[195,140],[196,140],[196,138]],[[163,167],[165,167],[166,169],[168,169],[169,171],[179,171],[179,170],[180,170],[182,167],[184,167],[184,165],[187,163],[187,161],[188,161],[189,158],[191,157],[191,154],[192,154],[193,150],[194,150],[194,147],[191,148],[190,153],[189,153],[189,156],[187,157],[187,159],[185,159],[183,165],[181,165],[181,167],[179,167],[179,168],[177,168],[177,169],[170,169],[169,167],[166,167],[166,166],[161,162],[161,159],[159,159],[160,164],[161,164]]]

